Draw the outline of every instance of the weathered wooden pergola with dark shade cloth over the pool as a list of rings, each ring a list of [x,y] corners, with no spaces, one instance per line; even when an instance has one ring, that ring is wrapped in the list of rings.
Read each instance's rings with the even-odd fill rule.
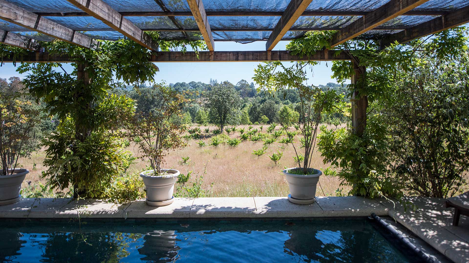
[[[93,17],[104,23],[114,32],[120,33],[123,37],[127,37],[145,48],[153,51],[151,61],[154,62],[236,62],[236,61],[298,61],[306,60],[306,58],[299,58],[289,54],[287,51],[273,51],[276,44],[280,40],[288,40],[285,38],[289,31],[309,31],[309,30],[338,30],[333,37],[331,48],[336,47],[350,39],[362,37],[363,34],[371,34],[371,38],[380,41],[380,45],[385,47],[395,41],[399,43],[406,43],[408,41],[425,37],[445,29],[453,28],[461,24],[469,22],[469,2],[467,0],[455,0],[459,4],[444,7],[439,3],[439,8],[431,8],[428,3],[437,3],[436,0],[389,0],[383,5],[376,8],[368,8],[370,10],[323,10],[316,8],[310,10],[312,0],[291,0],[289,4],[282,11],[258,11],[259,8],[249,10],[249,7],[244,8],[243,11],[205,11],[203,0],[187,0],[189,11],[174,11],[167,7],[170,0],[154,0],[155,5],[162,11],[125,11],[118,12],[111,7],[106,0],[55,0],[55,1],[68,1],[67,4],[77,7],[81,12],[56,12],[51,7],[50,13],[34,12],[28,8],[20,7],[23,1],[30,2],[30,0],[0,0],[0,19],[21,26],[27,30],[36,31],[66,41],[71,44],[76,44],[84,48],[93,49],[96,46],[96,40],[89,34],[70,28],[63,22],[54,21],[54,17],[68,18],[68,17]],[[148,0],[153,1],[153,0]],[[242,1],[242,0],[240,0]],[[249,0],[244,0],[248,1]],[[360,1],[360,0],[357,0]],[[14,3],[15,2],[15,3]],[[45,0],[37,0],[36,2],[44,2]],[[208,0],[205,0],[208,2]],[[278,0],[271,2],[277,3]],[[271,5],[271,2],[265,2],[265,6]],[[340,2],[340,1],[337,1]],[[381,0],[376,0],[381,2]],[[428,3],[427,3],[428,2]],[[448,1],[446,1],[448,2]],[[451,1],[449,1],[451,2]],[[448,3],[449,3],[448,2]],[[453,1],[454,3],[454,1]],[[125,5],[125,1],[122,2]],[[427,4],[424,8],[419,8],[421,5]],[[449,5],[449,4],[448,4]],[[27,5],[26,5],[27,6]],[[209,7],[210,8],[210,7]],[[313,6],[313,9],[315,7]],[[262,8],[261,8],[262,9]],[[268,9],[268,8],[267,8]],[[342,8],[344,9],[344,8]],[[345,8],[347,9],[347,8]],[[366,9],[366,8],[365,8]],[[178,17],[188,16],[193,18],[197,23],[197,28],[184,28]],[[223,26],[211,28],[209,17],[235,17],[239,21],[243,19],[255,19],[258,17],[280,17],[276,24],[272,27],[232,27]],[[335,16],[339,22],[339,26],[310,26],[309,23],[298,23],[300,17],[325,17],[330,18]],[[350,20],[350,16],[356,19],[352,22],[341,23],[340,20]],[[393,21],[399,17],[417,17],[416,20],[420,21],[411,25],[386,25],[386,22]],[[140,28],[133,22],[132,17],[165,17],[172,23],[171,27],[155,27],[155,28]],[[419,17],[422,17],[419,19]],[[1,25],[1,24],[0,24]],[[295,26],[294,26],[295,25]],[[161,52],[158,50],[158,44],[145,33],[145,31],[161,31],[161,32],[181,32],[182,36],[191,39],[189,32],[200,32],[207,44],[209,51],[201,51],[197,57],[195,52],[177,52],[167,51]],[[219,38],[214,40],[213,32],[249,32],[249,31],[267,31],[271,32],[266,38],[255,39],[257,41],[266,41],[265,51],[215,51],[215,41],[227,41],[230,39]],[[388,32],[389,31],[389,32]],[[373,33],[370,33],[373,32]],[[386,34],[380,34],[386,32]],[[298,35],[301,37],[301,34]],[[370,37],[370,36],[368,36]],[[171,38],[169,38],[171,39]],[[38,41],[31,36],[24,36],[15,32],[1,29],[0,27],[0,43],[13,45],[28,49],[30,52],[27,56],[23,57],[23,62],[72,62],[71,58],[65,55],[49,55],[47,52],[40,52],[40,45]],[[334,56],[333,50],[321,50],[309,58],[310,60],[350,60],[350,57],[344,52],[338,56]],[[3,62],[12,62],[11,59],[3,59]],[[355,83],[360,71],[355,68],[355,75],[352,76],[352,83]],[[352,96],[352,125],[356,133],[363,132],[366,123],[366,108],[368,100],[366,96],[356,98],[354,93]]]

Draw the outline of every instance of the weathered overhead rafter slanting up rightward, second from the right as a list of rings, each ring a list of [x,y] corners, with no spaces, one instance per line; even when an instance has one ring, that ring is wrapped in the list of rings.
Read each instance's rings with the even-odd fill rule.
[[[390,0],[337,32],[331,41],[331,48],[359,36],[370,29],[374,29],[380,24],[408,12],[426,1],[428,0]]]

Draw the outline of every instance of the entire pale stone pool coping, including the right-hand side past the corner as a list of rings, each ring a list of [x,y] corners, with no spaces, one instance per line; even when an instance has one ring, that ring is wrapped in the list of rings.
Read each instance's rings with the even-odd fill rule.
[[[145,200],[125,205],[97,199],[22,198],[0,206],[0,219],[223,219],[223,218],[326,218],[390,216],[454,262],[469,262],[469,220],[461,216],[452,226],[453,208],[442,198],[406,197],[416,205],[406,208],[394,199],[364,197],[316,197],[311,205],[296,205],[287,197],[175,198],[167,206],[154,207]]]

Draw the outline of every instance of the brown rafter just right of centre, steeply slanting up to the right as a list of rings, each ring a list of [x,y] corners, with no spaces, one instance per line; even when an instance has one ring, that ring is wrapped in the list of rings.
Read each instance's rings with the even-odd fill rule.
[[[280,17],[279,22],[273,29],[272,34],[270,34],[267,43],[265,44],[265,48],[267,50],[272,50],[277,43],[282,39],[287,31],[293,26],[296,22],[298,17],[303,14],[304,10],[310,5],[311,0],[291,0],[283,12],[282,16]]]

